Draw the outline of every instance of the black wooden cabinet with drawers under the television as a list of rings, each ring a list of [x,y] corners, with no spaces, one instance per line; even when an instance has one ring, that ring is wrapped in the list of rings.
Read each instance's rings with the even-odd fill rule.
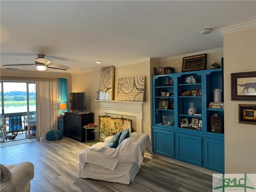
[[[85,142],[84,126],[94,122],[94,113],[65,112],[64,136]],[[94,139],[94,134],[87,132],[87,140]]]

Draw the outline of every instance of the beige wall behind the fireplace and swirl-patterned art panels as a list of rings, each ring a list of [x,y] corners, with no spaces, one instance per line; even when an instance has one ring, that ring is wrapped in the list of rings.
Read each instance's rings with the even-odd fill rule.
[[[128,66],[115,67],[114,74],[114,100],[117,98],[117,86],[119,78],[130,78],[146,76],[145,102],[142,113],[142,132],[151,136],[150,123],[150,61]],[[96,98],[96,88],[100,88],[100,70],[72,75],[72,92],[86,92],[87,111],[94,113],[94,122],[98,123],[100,106],[94,101]]]

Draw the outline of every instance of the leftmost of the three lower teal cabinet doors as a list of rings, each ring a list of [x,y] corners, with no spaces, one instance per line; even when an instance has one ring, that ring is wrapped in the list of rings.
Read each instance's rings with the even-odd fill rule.
[[[153,130],[154,136],[154,153],[174,158],[174,133]]]

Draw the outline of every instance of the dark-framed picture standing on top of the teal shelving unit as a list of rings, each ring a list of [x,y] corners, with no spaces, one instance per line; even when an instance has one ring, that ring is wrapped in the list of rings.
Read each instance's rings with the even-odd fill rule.
[[[204,70],[206,66],[206,54],[184,57],[182,72]]]

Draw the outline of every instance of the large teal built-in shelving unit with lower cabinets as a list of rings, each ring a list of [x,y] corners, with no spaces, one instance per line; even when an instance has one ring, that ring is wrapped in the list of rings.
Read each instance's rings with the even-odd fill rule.
[[[186,83],[188,76],[193,76],[196,83]],[[164,86],[167,77],[169,80],[173,79],[172,86]],[[185,91],[200,88],[202,90],[200,96],[181,96]],[[216,88],[223,90],[222,69],[152,76],[154,153],[224,172],[224,109],[208,108],[208,104],[214,101],[213,90]],[[170,95],[162,96],[161,92],[170,92]],[[168,100],[167,109],[158,106],[161,99]],[[174,108],[170,109],[172,102]],[[190,102],[194,103],[197,114],[202,114],[201,116],[188,115]],[[210,117],[214,114],[221,117],[220,133],[212,132]],[[174,116],[172,124],[164,125],[163,116]],[[182,119],[186,118],[188,122],[192,122],[192,118],[201,120],[202,130],[181,127]]]

